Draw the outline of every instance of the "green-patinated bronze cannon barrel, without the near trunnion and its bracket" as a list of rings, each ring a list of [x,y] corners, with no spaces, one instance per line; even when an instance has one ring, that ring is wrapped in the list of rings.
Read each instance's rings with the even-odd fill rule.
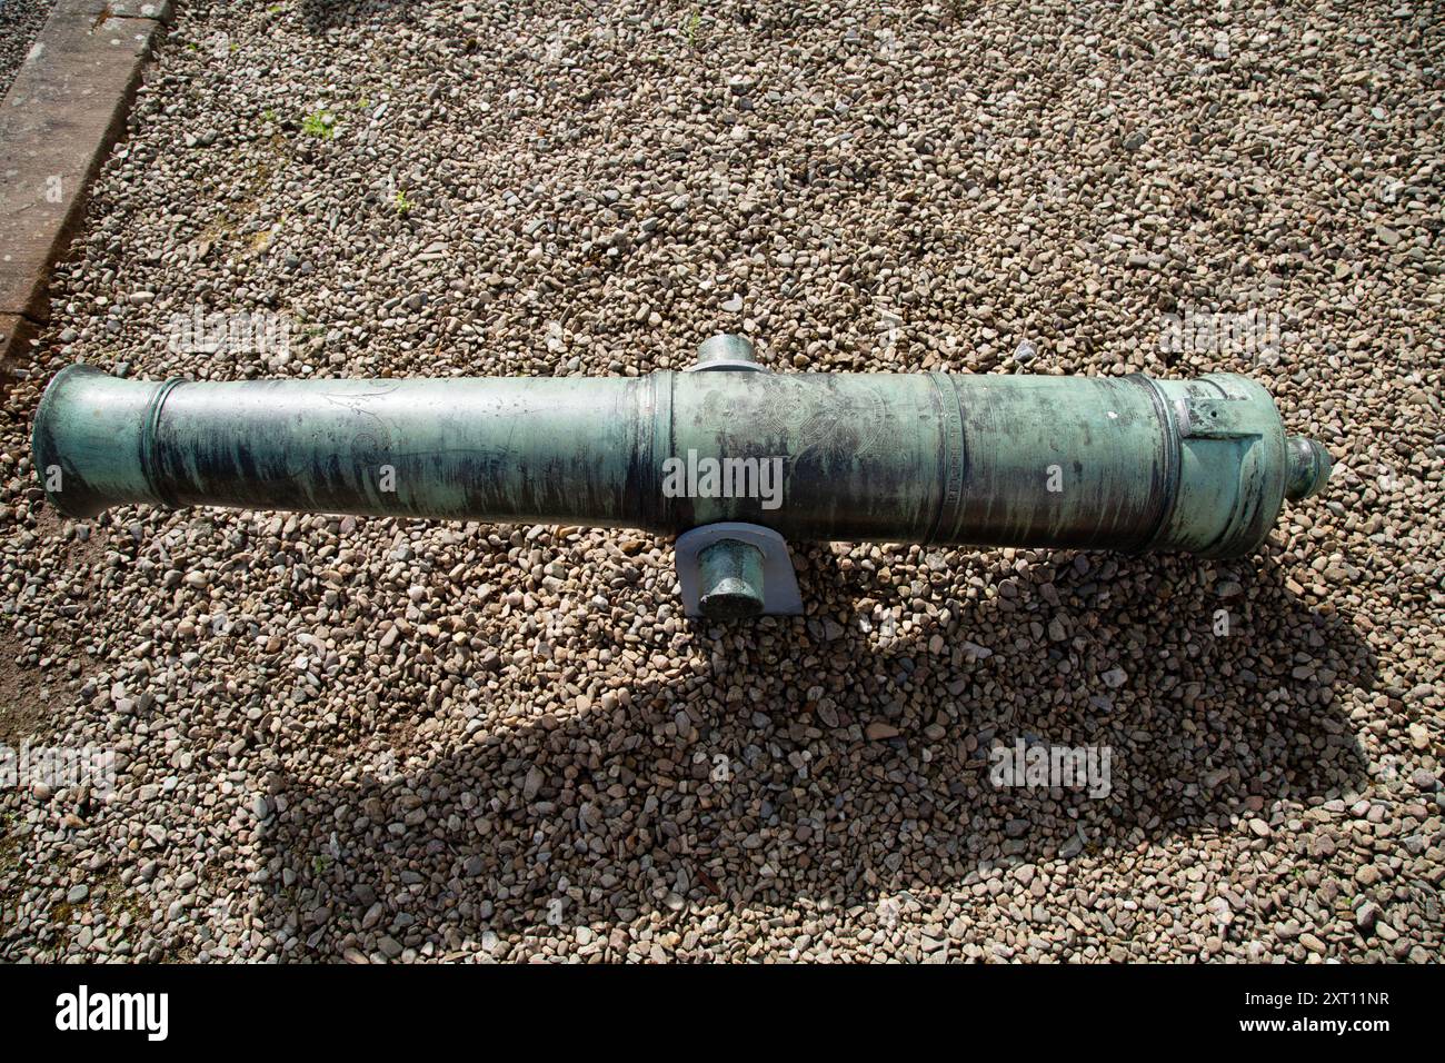
[[[61,370],[36,469],[71,516],[233,506],[681,534],[1256,550],[1329,457],[1257,383],[770,373],[733,337],[637,377],[163,383]],[[711,364],[709,364],[711,363]]]

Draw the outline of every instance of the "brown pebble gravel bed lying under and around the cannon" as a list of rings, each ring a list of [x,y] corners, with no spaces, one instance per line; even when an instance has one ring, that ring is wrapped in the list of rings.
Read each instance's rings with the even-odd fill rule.
[[[1432,6],[186,4],[3,415],[0,957],[1438,960]],[[288,351],[172,315],[276,312]],[[1166,349],[1261,312],[1264,349]],[[1194,317],[1189,317],[1194,315]],[[1240,563],[45,508],[43,379],[1247,372],[1338,467]],[[25,369],[22,367],[22,373]],[[1225,610],[1228,631],[1218,625]],[[1111,751],[998,788],[990,749]]]

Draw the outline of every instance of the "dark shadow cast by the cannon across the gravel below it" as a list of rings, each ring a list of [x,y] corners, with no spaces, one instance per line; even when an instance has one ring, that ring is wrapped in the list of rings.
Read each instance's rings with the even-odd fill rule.
[[[838,571],[827,548],[808,557],[805,600],[880,599],[871,574]],[[1207,586],[1179,558],[1052,561],[1022,573],[1012,597],[952,602],[949,626],[883,648],[860,629],[861,607],[841,632],[798,620],[699,633],[696,674],[637,686],[630,706],[481,732],[387,781],[276,780],[285,807],[260,846],[270,926],[298,939],[289,956],[334,959],[380,934],[432,942],[434,955],[488,930],[587,924],[605,942],[639,914],[689,928],[701,920],[689,910],[720,904],[767,917],[909,891],[928,907],[929,891],[975,871],[1237,834],[1231,816],[1363,785],[1341,701],[1373,687],[1376,661],[1276,565],[1240,564]],[[957,593],[961,581],[935,576]],[[1221,607],[1227,638],[1214,633]],[[1065,631],[1046,632],[1053,620]],[[959,651],[965,641],[993,652]],[[772,677],[754,664],[769,652],[799,673]],[[1116,667],[1127,675],[1101,680]],[[678,735],[681,712],[695,733]],[[877,722],[899,733],[864,738]],[[1110,793],[996,787],[988,751],[1019,739],[1108,746]]]

